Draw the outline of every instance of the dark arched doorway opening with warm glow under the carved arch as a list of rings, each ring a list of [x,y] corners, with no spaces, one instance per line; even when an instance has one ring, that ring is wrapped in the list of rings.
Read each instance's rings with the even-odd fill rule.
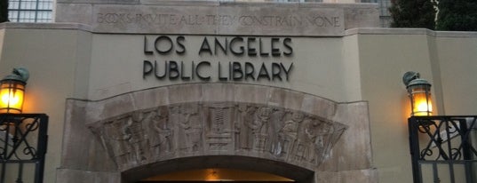
[[[215,177],[214,177],[215,176]],[[123,171],[123,183],[314,182],[314,171],[297,165],[241,155],[203,155],[150,163]]]

